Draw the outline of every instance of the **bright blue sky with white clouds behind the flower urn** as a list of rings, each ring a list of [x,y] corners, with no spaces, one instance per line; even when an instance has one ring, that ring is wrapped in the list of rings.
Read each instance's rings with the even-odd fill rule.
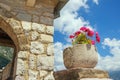
[[[56,70],[65,69],[64,48],[71,46],[69,35],[86,25],[99,32],[97,69],[120,70],[120,0],[69,0],[54,21]]]

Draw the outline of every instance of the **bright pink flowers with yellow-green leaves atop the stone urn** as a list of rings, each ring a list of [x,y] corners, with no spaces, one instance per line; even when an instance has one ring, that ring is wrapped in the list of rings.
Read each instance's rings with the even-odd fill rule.
[[[95,40],[94,40],[95,37]],[[70,35],[69,38],[72,39],[72,44],[92,44],[95,45],[96,42],[100,42],[100,36],[98,32],[95,32],[87,27],[81,27],[79,31]]]

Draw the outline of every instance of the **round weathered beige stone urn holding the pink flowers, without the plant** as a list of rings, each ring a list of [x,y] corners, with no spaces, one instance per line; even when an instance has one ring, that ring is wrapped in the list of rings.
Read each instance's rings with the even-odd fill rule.
[[[76,44],[63,51],[64,65],[71,68],[94,68],[98,62],[98,54],[95,45]]]

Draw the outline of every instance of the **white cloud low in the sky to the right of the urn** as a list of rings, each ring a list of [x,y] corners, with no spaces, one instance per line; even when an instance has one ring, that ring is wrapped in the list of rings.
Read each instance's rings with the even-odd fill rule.
[[[99,55],[99,63],[96,68],[109,71],[120,69],[120,40],[105,38],[102,44],[104,47],[109,47],[113,56],[102,57]]]

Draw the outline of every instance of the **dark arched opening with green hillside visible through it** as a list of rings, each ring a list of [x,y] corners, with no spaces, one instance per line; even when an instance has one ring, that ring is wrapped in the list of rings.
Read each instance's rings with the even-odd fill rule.
[[[13,75],[15,49],[13,40],[0,28],[0,80],[6,80]]]

